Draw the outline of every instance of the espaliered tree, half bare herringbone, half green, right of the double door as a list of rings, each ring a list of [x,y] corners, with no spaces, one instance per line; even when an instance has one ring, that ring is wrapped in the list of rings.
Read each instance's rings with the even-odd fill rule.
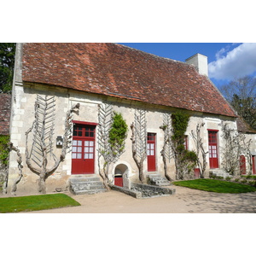
[[[113,112],[112,105],[100,104],[98,110],[98,166],[104,186],[109,190],[109,166],[125,152],[128,126],[121,113]],[[103,168],[101,158],[104,160]]]

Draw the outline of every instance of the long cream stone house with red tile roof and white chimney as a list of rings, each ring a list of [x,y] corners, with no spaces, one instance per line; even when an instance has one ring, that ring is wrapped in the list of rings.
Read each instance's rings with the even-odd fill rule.
[[[26,165],[26,131],[35,119],[37,97],[55,101],[53,142],[63,138],[67,111],[79,103],[73,113],[73,147],[46,180],[47,192],[67,189],[68,181],[78,174],[99,176],[99,106],[108,104],[121,113],[129,127],[125,153],[109,169],[109,179],[129,187],[138,182],[138,169],[132,157],[130,125],[135,113],[143,110],[147,124],[148,156],[143,162],[144,175],[164,175],[161,151],[164,131],[160,129],[166,114],[178,109],[190,114],[186,147],[195,150],[191,131],[204,123],[201,137],[207,154],[207,175],[223,172],[222,124],[237,129],[236,113],[207,77],[207,57],[194,55],[186,62],[151,55],[120,44],[17,44],[15,79],[11,113],[11,141],[20,148],[24,161],[18,190],[35,193],[38,175]],[[256,154],[253,135],[252,154]],[[28,148],[32,148],[32,141]],[[61,147],[53,145],[53,153]],[[33,165],[37,163],[34,154]],[[49,157],[49,165],[51,164]],[[254,167],[255,168],[255,167]],[[175,178],[174,160],[167,161],[168,174]],[[17,176],[15,154],[10,155],[9,184]],[[249,171],[247,171],[249,172]],[[115,179],[116,177],[116,179]],[[119,177],[119,178],[118,178]]]

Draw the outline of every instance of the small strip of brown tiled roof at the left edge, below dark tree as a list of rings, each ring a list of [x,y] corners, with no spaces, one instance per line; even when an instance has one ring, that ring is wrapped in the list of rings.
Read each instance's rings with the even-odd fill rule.
[[[0,135],[9,135],[11,95],[0,93]]]

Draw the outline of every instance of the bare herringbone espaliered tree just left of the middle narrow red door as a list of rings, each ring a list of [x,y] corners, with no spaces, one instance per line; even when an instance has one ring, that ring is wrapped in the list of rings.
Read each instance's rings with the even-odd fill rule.
[[[143,162],[147,157],[147,122],[146,112],[137,109],[131,124],[132,157],[139,171],[139,179],[144,183]]]

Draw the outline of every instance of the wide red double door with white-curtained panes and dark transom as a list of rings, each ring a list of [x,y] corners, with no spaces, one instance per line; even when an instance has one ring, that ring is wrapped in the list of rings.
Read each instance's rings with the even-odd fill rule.
[[[94,173],[95,125],[74,124],[72,174]]]

